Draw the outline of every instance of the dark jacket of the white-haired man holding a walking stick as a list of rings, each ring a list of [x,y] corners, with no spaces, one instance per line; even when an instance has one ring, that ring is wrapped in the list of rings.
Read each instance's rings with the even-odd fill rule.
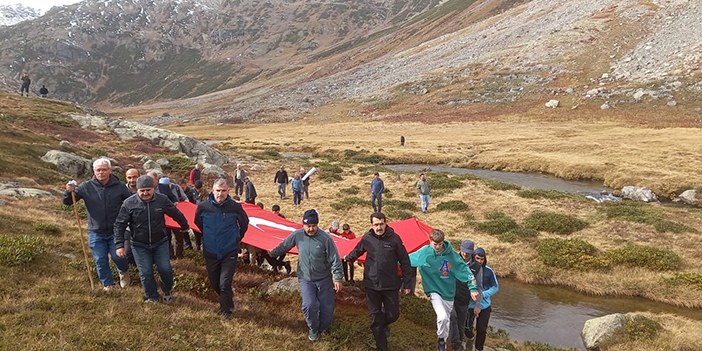
[[[110,174],[105,185],[93,177],[81,183],[74,192],[76,201],[80,199],[85,201],[85,209],[88,211],[88,231],[101,235],[112,235],[122,202],[132,195],[114,174]],[[63,192],[63,204],[73,205],[71,192],[68,190]]]

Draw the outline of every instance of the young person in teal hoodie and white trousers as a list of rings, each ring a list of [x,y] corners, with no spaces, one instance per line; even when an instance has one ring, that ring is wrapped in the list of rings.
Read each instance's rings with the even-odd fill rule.
[[[456,296],[456,280],[468,285],[474,301],[477,301],[480,296],[473,273],[444,237],[443,231],[432,229],[429,232],[430,244],[409,255],[412,267],[419,268],[424,293],[429,296],[436,312],[437,350],[439,351],[446,350],[451,310]]]

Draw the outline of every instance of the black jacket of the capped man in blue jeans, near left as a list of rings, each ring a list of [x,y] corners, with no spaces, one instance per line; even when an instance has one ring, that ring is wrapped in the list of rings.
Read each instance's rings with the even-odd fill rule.
[[[115,221],[115,246],[124,247],[124,231],[129,227],[132,246],[154,248],[168,241],[166,218],[168,215],[180,224],[181,230],[188,229],[188,220],[180,210],[163,195],[154,192],[149,201],[144,201],[139,194],[124,200]]]

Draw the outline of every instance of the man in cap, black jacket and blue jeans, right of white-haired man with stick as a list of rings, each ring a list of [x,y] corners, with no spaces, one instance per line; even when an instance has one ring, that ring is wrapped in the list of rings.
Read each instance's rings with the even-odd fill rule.
[[[137,193],[124,200],[115,221],[115,246],[117,256],[126,257],[124,233],[129,227],[132,233],[132,253],[146,295],[144,301],[159,300],[154,279],[155,264],[161,280],[162,301],[170,304],[173,302],[171,295],[173,269],[168,253],[168,234],[164,214],[178,222],[181,231],[188,230],[188,221],[165,195],[155,193],[154,187],[154,180],[148,175],[137,179]]]

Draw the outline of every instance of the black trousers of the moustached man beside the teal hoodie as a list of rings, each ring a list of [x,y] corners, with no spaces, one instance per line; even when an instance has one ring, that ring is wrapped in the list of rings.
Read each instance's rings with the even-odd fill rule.
[[[385,351],[388,349],[390,324],[400,318],[400,292],[366,288],[366,303],[375,346],[378,350]]]

